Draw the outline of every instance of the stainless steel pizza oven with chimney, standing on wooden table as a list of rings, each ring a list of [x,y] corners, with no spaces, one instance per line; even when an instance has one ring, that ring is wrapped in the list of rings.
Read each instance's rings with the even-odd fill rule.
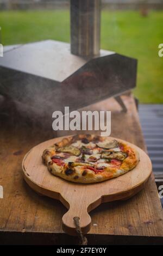
[[[71,44],[46,40],[4,47],[1,114],[11,109],[52,124],[55,110],[79,109],[135,87],[136,59],[99,50],[100,1],[71,0],[70,6]]]

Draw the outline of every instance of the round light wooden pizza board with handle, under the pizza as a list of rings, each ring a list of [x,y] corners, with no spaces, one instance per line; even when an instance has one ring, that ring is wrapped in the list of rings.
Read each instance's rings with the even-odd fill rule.
[[[66,136],[65,136],[66,137]],[[62,217],[62,227],[70,235],[77,235],[74,217],[79,217],[84,234],[90,230],[91,217],[88,214],[98,205],[114,200],[128,199],[139,192],[152,172],[152,163],[148,155],[134,144],[128,143],[139,151],[140,162],[130,172],[115,179],[94,184],[79,184],[66,181],[49,173],[42,163],[42,152],[64,137],[51,139],[32,148],[22,162],[23,175],[27,184],[36,192],[58,199],[68,211]],[[110,139],[116,139],[110,137]],[[118,139],[118,141],[122,141]],[[124,141],[122,141],[124,142]]]

